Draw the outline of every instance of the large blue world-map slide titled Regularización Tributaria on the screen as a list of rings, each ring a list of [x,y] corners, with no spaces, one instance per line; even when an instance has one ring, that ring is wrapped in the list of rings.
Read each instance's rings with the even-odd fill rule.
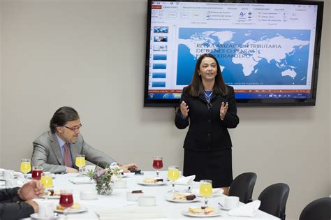
[[[311,31],[304,29],[179,28],[176,82],[189,85],[196,60],[207,52],[228,85],[305,86],[310,44]]]

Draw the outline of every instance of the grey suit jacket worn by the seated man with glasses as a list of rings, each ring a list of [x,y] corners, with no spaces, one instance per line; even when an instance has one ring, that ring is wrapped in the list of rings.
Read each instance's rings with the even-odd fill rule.
[[[41,166],[44,171],[50,171],[52,173],[66,173],[66,166],[64,166],[64,159],[55,134],[47,131],[36,138],[33,145],[34,152],[31,158],[32,166]],[[87,142],[84,142],[84,138],[80,134],[78,135],[77,142],[70,144],[70,149],[73,163],[75,163],[77,154],[84,154],[87,161],[103,168],[115,162],[112,157],[91,147]],[[75,168],[77,167],[75,166]]]

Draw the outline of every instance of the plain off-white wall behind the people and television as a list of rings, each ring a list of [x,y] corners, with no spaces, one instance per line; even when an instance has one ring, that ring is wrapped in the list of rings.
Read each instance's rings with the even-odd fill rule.
[[[146,0],[4,0],[0,42],[0,166],[18,170],[31,142],[62,105],[80,112],[89,144],[122,163],[182,167],[185,131],[173,108],[143,108]],[[266,186],[290,186],[288,219],[331,193],[330,2],[325,1],[315,107],[239,108],[231,130],[234,175],[258,174]],[[328,45],[328,46],[327,46]]]

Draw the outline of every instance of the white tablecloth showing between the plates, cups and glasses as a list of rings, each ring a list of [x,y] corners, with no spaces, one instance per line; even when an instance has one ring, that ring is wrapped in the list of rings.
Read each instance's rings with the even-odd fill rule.
[[[54,190],[60,189],[71,189],[73,190],[73,198],[75,203],[80,203],[84,207],[88,207],[87,212],[82,212],[80,214],[69,214],[68,219],[98,219],[96,215],[96,210],[144,210],[151,209],[157,210],[157,212],[163,214],[166,219],[205,219],[203,217],[186,217],[182,214],[183,210],[188,210],[191,206],[200,206],[203,204],[203,198],[201,202],[196,203],[171,203],[165,200],[166,193],[170,190],[171,185],[165,184],[162,186],[142,186],[137,184],[140,179],[147,177],[155,177],[156,172],[147,171],[144,175],[135,175],[134,177],[123,177],[123,180],[127,181],[126,189],[113,189],[110,196],[98,196],[97,200],[81,200],[80,191],[95,189],[95,184],[73,184],[68,181],[68,178],[75,177],[72,174],[66,175],[56,175],[54,178]],[[167,173],[165,171],[160,172],[161,177],[166,179]],[[198,183],[194,182],[192,184],[193,188],[198,188]],[[156,196],[156,206],[155,207],[138,207],[136,202],[128,202],[126,200],[126,192],[141,189],[145,195]],[[188,189],[188,186],[175,185],[175,189],[178,191],[184,191]],[[36,199],[37,202],[39,199]],[[217,203],[221,200],[220,196],[215,196],[209,198],[209,206],[219,208]],[[59,200],[53,200],[54,205],[59,203]],[[213,217],[214,219],[246,219],[246,220],[259,220],[259,219],[278,219],[270,214],[258,210],[255,217],[229,217],[228,212],[224,210],[221,211],[221,216]],[[61,215],[61,219],[64,216]],[[208,218],[209,219],[209,218]]]

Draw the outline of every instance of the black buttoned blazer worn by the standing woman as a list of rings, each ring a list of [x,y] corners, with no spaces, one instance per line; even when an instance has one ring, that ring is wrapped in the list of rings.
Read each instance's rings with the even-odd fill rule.
[[[235,91],[228,86],[228,95],[212,94],[212,108],[207,108],[205,96],[193,97],[183,89],[182,101],[189,105],[189,117],[182,119],[180,108],[175,117],[175,125],[178,129],[189,126],[184,141],[185,149],[196,151],[215,151],[232,147],[228,129],[233,129],[239,124],[237,107],[235,103]],[[228,112],[223,121],[219,116],[221,103],[228,102]]]

